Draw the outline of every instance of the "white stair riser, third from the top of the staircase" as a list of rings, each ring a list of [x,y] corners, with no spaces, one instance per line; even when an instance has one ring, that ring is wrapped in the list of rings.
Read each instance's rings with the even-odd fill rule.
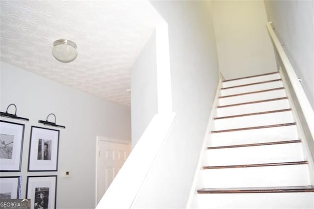
[[[246,94],[234,97],[226,97],[219,99],[219,105],[239,104],[247,102],[255,102],[260,100],[268,100],[275,98],[287,97],[285,89],[266,91],[261,93]]]

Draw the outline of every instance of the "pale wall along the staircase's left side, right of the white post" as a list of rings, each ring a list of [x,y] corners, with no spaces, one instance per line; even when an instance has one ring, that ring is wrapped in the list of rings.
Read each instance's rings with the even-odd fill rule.
[[[184,208],[219,79],[210,1],[151,3],[168,23],[176,119],[134,207]]]

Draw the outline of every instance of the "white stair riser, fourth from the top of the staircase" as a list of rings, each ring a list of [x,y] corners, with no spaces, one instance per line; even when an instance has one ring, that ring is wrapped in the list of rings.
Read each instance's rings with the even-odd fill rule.
[[[290,108],[288,99],[216,108],[217,117]]]

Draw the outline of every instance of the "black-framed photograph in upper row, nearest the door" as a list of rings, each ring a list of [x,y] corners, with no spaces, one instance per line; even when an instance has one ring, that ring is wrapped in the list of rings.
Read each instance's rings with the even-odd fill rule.
[[[58,170],[59,131],[31,127],[28,171]]]

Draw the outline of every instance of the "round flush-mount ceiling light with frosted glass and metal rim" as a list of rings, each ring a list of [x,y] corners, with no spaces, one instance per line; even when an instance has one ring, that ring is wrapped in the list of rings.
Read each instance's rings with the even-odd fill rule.
[[[52,54],[60,62],[71,62],[77,56],[77,45],[67,39],[59,39],[53,42]]]

